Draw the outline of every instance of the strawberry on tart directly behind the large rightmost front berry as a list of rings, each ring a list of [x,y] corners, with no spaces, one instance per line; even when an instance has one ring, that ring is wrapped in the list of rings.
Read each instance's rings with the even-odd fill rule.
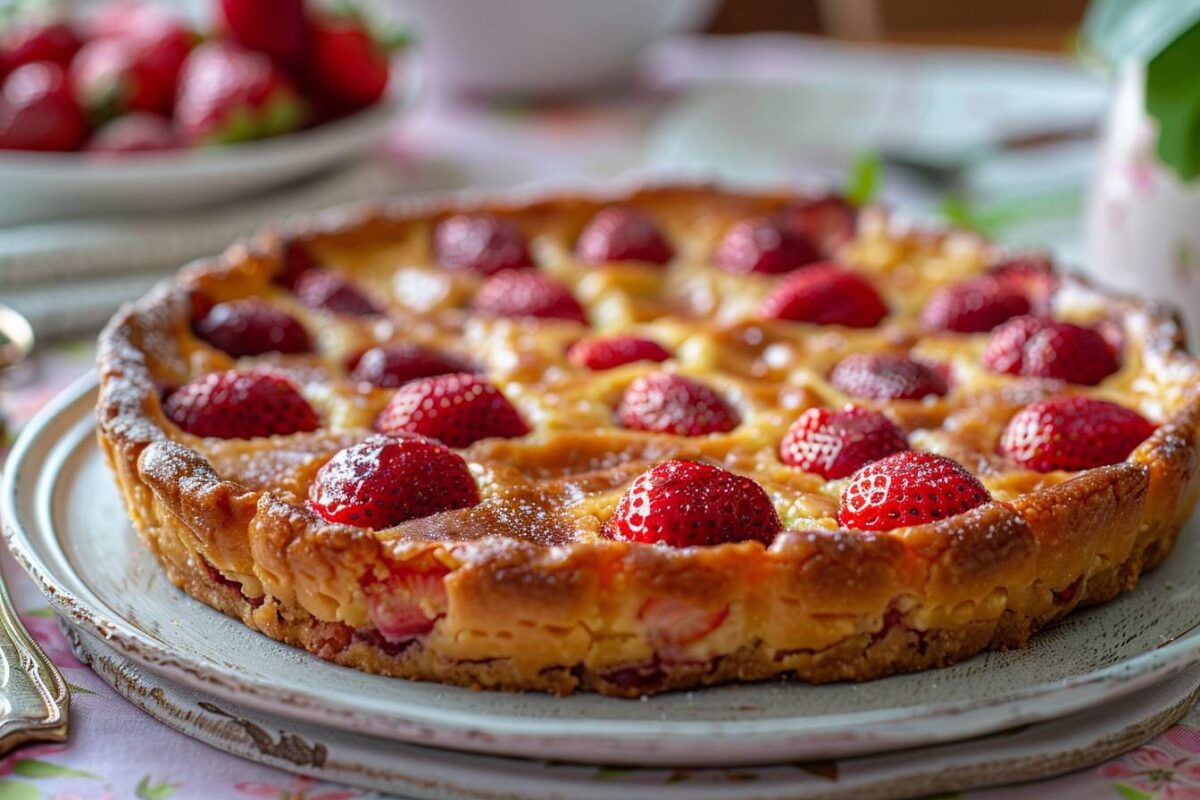
[[[1108,341],[1092,330],[1020,317],[996,329],[983,353],[992,372],[1094,386],[1120,368]]]

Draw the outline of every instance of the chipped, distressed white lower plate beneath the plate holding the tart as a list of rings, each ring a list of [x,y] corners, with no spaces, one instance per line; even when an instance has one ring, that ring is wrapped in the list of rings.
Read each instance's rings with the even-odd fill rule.
[[[1091,766],[1177,722],[1200,693],[1200,667],[1192,667],[1117,703],[970,741],[764,766],[616,768],[480,756],[330,730],[182,687],[86,633],[72,640],[80,660],[106,682],[180,733],[260,764],[424,800],[882,800],[931,795]]]

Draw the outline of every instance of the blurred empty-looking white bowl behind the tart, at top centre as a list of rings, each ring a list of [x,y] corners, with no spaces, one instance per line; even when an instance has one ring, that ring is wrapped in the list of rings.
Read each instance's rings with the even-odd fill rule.
[[[691,30],[715,0],[392,0],[416,28],[433,90],[546,95],[632,71],[650,41]]]

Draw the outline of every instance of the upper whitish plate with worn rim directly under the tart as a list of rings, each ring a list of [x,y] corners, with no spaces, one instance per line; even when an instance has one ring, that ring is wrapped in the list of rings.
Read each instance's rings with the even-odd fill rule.
[[[772,681],[637,700],[472,692],[368,675],[278,644],[175,590],[131,530],[95,441],[95,378],[10,456],[14,555],[74,626],[240,705],[437,747],[586,763],[732,765],[844,757],[1056,718],[1160,681],[1200,654],[1200,531],[1136,591],[1030,648],[866,684]]]

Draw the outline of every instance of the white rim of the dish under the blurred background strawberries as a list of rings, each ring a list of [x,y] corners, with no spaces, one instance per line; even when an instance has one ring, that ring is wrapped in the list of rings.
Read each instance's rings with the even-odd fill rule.
[[[298,133],[124,160],[0,151],[0,224],[196,207],[272,188],[368,149],[386,132],[397,108],[385,101]]]

